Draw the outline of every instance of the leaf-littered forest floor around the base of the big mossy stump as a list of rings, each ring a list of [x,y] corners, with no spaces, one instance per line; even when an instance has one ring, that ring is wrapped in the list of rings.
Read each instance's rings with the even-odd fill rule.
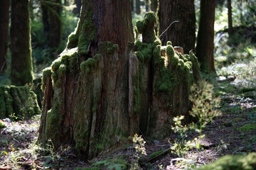
[[[174,140],[170,137],[149,141],[144,145],[146,156],[134,157],[134,147],[127,145],[108,157],[98,157],[89,163],[75,156],[72,146],[42,149],[36,145],[40,115],[32,120],[11,121],[4,119],[6,128],[0,130],[1,169],[127,169],[128,166],[142,169],[188,169],[208,164],[226,154],[256,152],[256,91],[252,88],[237,89],[230,79],[213,81],[216,94],[220,95],[222,115],[214,118],[203,130],[199,149],[190,147],[177,155],[171,150]],[[197,132],[188,132],[186,138],[198,137]],[[94,163],[94,164],[93,164]],[[94,166],[92,166],[94,165]],[[80,167],[80,168],[78,168]],[[87,167],[87,168],[86,168]],[[138,168],[135,168],[138,169]]]

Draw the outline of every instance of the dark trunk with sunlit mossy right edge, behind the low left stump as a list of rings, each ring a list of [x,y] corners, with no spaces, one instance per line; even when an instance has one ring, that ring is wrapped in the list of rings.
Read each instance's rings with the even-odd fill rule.
[[[21,15],[22,13],[22,15]],[[28,0],[11,1],[11,84],[33,80]]]

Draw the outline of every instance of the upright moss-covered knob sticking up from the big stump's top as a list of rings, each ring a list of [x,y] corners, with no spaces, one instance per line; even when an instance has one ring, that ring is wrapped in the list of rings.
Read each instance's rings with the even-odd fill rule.
[[[142,21],[137,21],[137,33],[142,34],[142,42],[152,43],[157,39],[154,26],[156,24],[156,13],[147,12]]]

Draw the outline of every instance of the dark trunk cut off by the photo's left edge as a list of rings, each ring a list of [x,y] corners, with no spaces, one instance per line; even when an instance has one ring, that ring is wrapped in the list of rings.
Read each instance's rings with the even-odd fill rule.
[[[9,8],[9,0],[0,1],[0,74],[4,73],[7,63]]]

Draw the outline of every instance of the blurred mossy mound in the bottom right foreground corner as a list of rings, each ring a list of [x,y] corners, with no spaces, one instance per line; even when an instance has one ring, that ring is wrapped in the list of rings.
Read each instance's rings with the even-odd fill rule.
[[[248,154],[247,156],[226,156],[217,161],[201,166],[199,170],[255,170],[256,169],[256,153]]]

